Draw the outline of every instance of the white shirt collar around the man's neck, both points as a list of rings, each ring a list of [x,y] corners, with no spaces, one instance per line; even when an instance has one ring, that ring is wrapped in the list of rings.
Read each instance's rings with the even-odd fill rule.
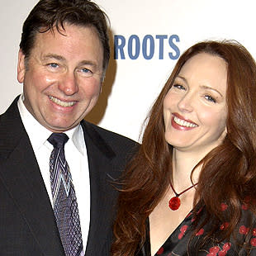
[[[36,118],[31,115],[24,105],[24,95],[21,94],[17,102],[18,109],[21,115],[21,121],[25,126],[26,133],[31,140],[31,145],[34,150],[40,149],[43,145],[50,147],[52,145],[47,141],[52,132],[42,126]],[[83,140],[83,130],[80,125],[73,127],[71,130],[65,131],[65,134],[69,136],[69,141],[67,143],[73,143],[73,145],[78,149],[78,151],[83,154],[85,149],[85,142]]]

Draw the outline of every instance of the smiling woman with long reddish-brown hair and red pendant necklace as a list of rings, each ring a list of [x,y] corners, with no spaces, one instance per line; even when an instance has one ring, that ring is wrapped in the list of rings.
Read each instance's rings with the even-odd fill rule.
[[[124,174],[112,256],[256,255],[255,83],[236,42],[180,57]]]

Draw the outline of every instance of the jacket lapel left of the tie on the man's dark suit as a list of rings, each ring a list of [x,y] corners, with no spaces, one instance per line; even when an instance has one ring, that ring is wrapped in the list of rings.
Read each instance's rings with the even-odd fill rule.
[[[36,156],[17,110],[17,99],[0,120],[0,178],[45,255],[64,255]]]

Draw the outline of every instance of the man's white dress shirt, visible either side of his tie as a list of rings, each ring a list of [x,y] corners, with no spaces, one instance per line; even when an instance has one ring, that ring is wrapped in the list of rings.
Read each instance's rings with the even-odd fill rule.
[[[37,163],[40,168],[40,173],[44,179],[45,187],[52,203],[53,198],[50,188],[50,154],[53,150],[53,145],[47,140],[52,132],[36,121],[35,117],[27,111],[22,99],[23,96],[21,95],[18,101],[21,121],[31,140],[31,145],[36,154]],[[65,134],[69,136],[69,140],[64,146],[64,152],[69,164],[73,187],[78,201],[83,249],[85,249],[90,224],[90,180],[87,149],[83,138],[83,130],[80,125],[74,127],[72,130],[65,131]]]

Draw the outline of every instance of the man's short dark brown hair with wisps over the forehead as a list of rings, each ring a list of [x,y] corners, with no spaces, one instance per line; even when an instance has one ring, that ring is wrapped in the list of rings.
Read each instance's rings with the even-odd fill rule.
[[[64,31],[64,23],[74,26],[95,27],[103,48],[103,70],[110,56],[107,35],[107,15],[89,0],[40,0],[23,24],[20,48],[27,59],[31,54],[37,33]]]

